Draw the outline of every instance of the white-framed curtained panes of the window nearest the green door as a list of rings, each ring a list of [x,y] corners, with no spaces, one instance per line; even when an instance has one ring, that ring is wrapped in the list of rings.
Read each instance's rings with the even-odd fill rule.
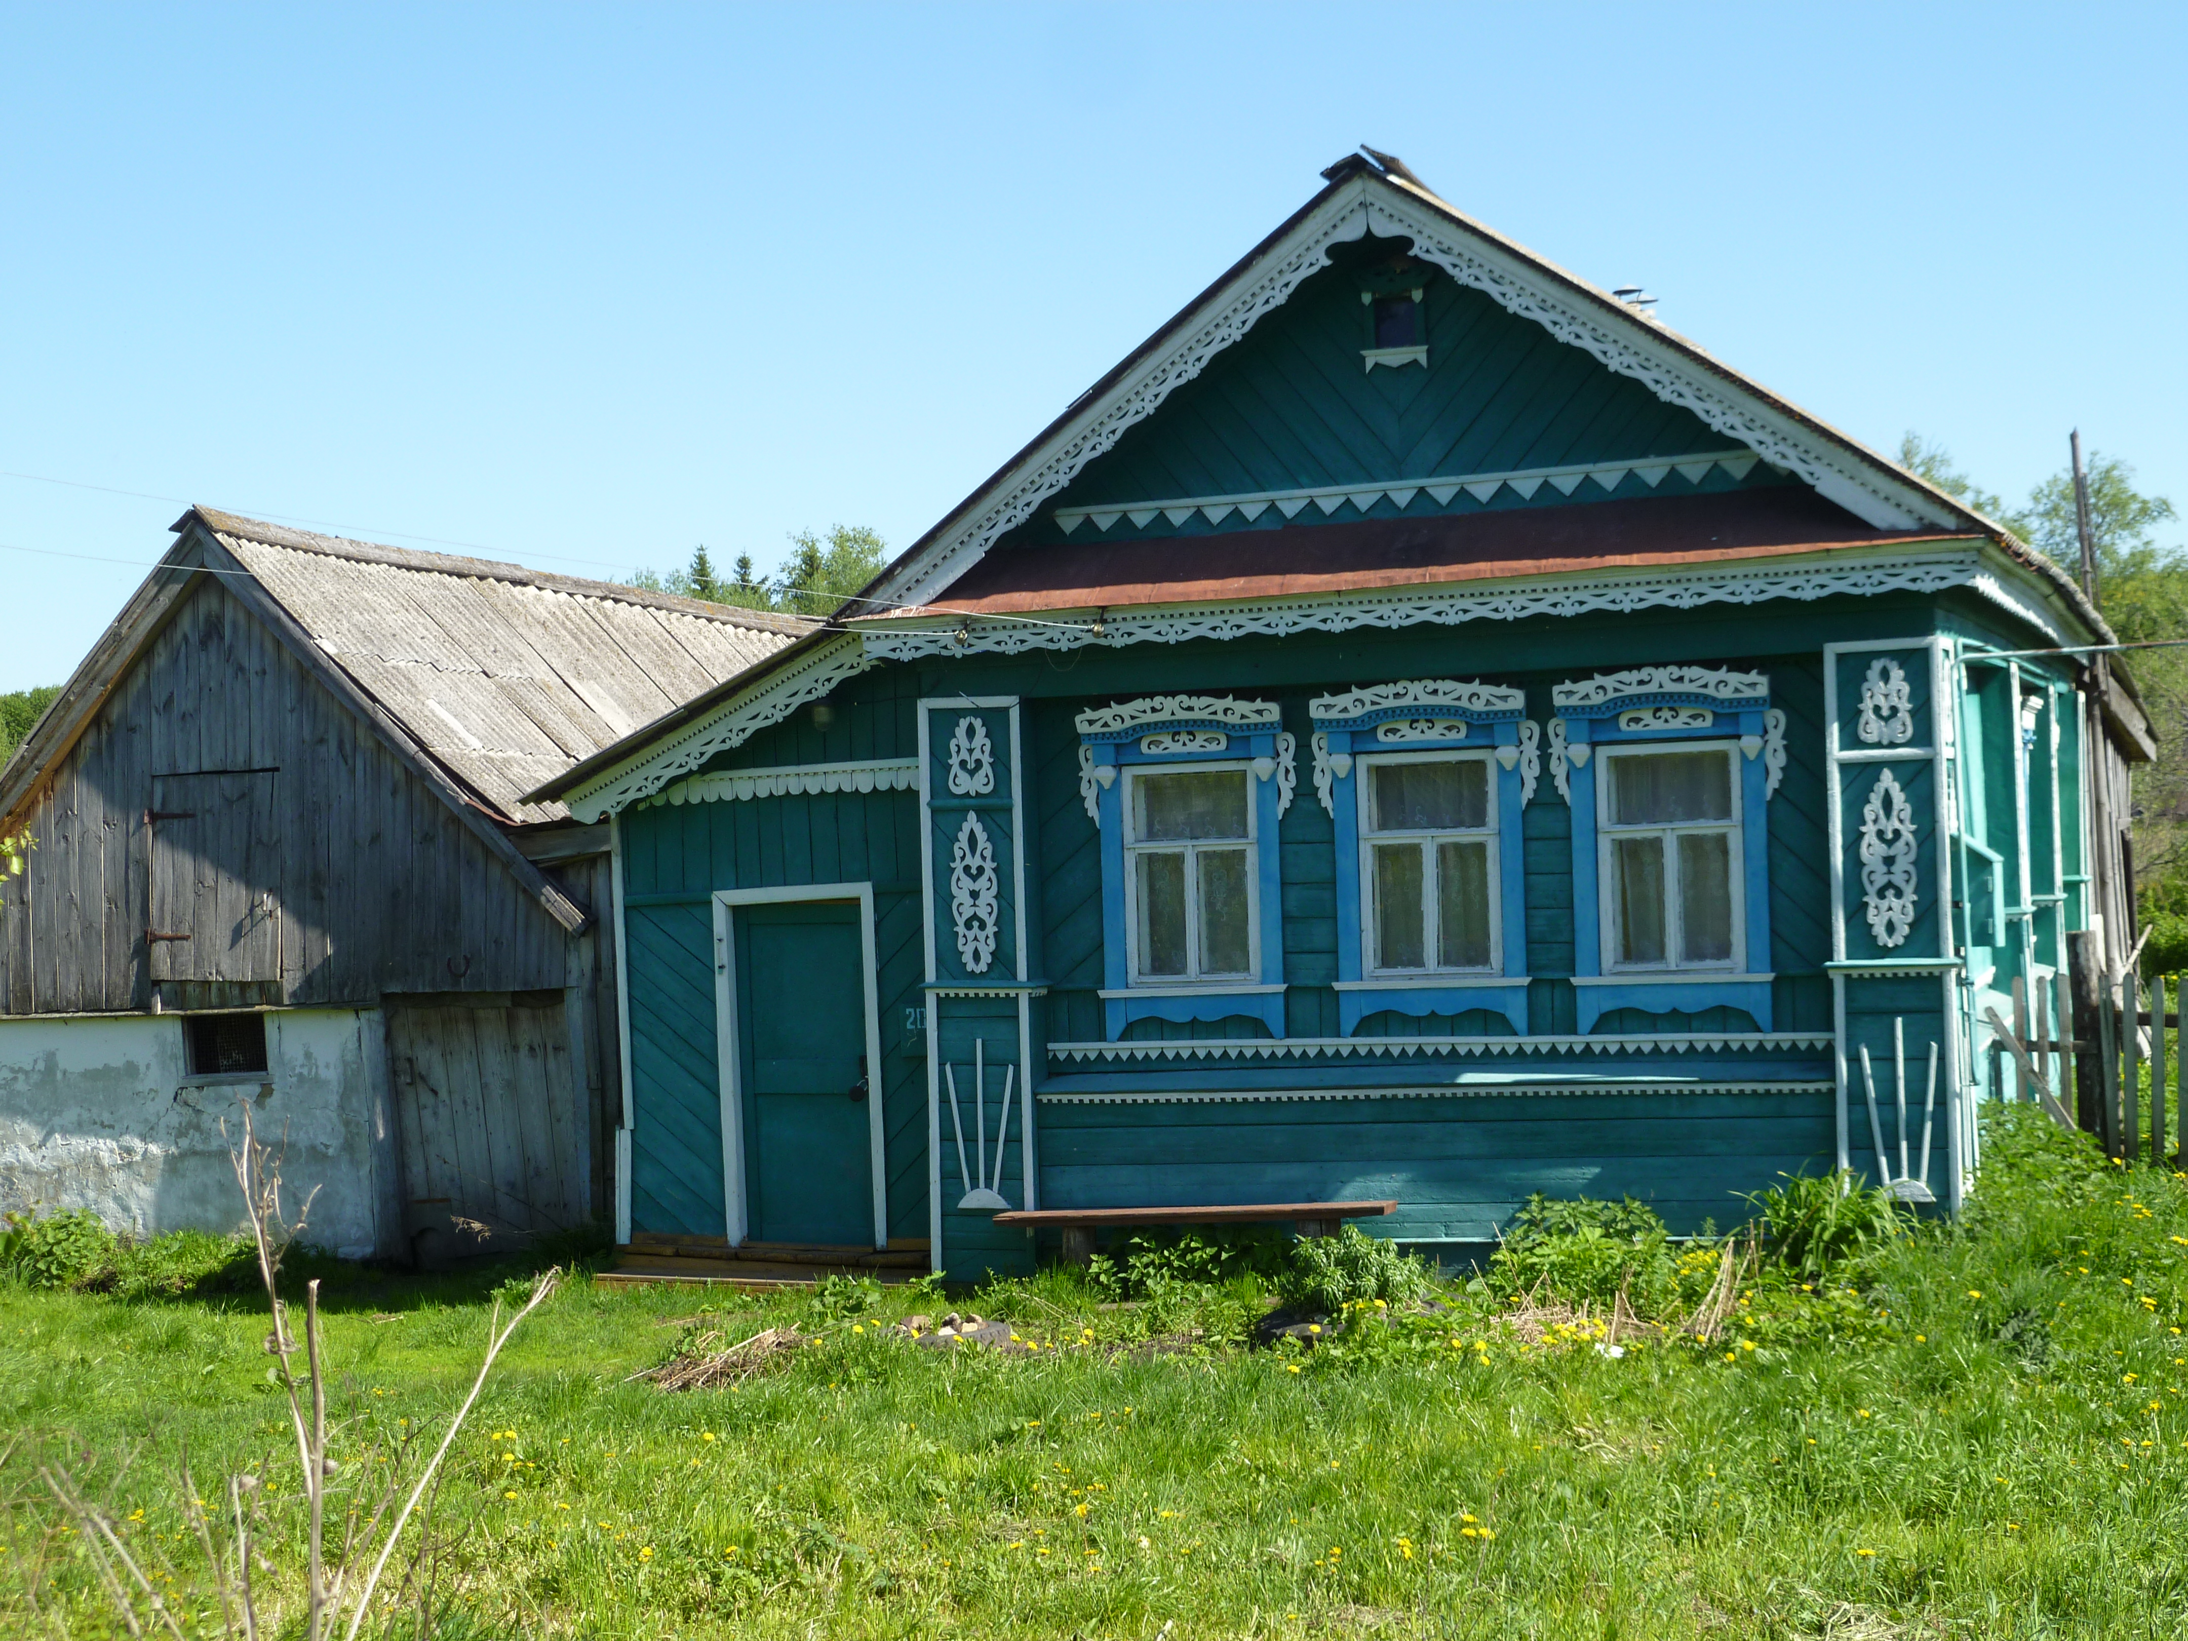
[[[1256,842],[1245,764],[1127,772],[1133,985],[1254,974]]]

